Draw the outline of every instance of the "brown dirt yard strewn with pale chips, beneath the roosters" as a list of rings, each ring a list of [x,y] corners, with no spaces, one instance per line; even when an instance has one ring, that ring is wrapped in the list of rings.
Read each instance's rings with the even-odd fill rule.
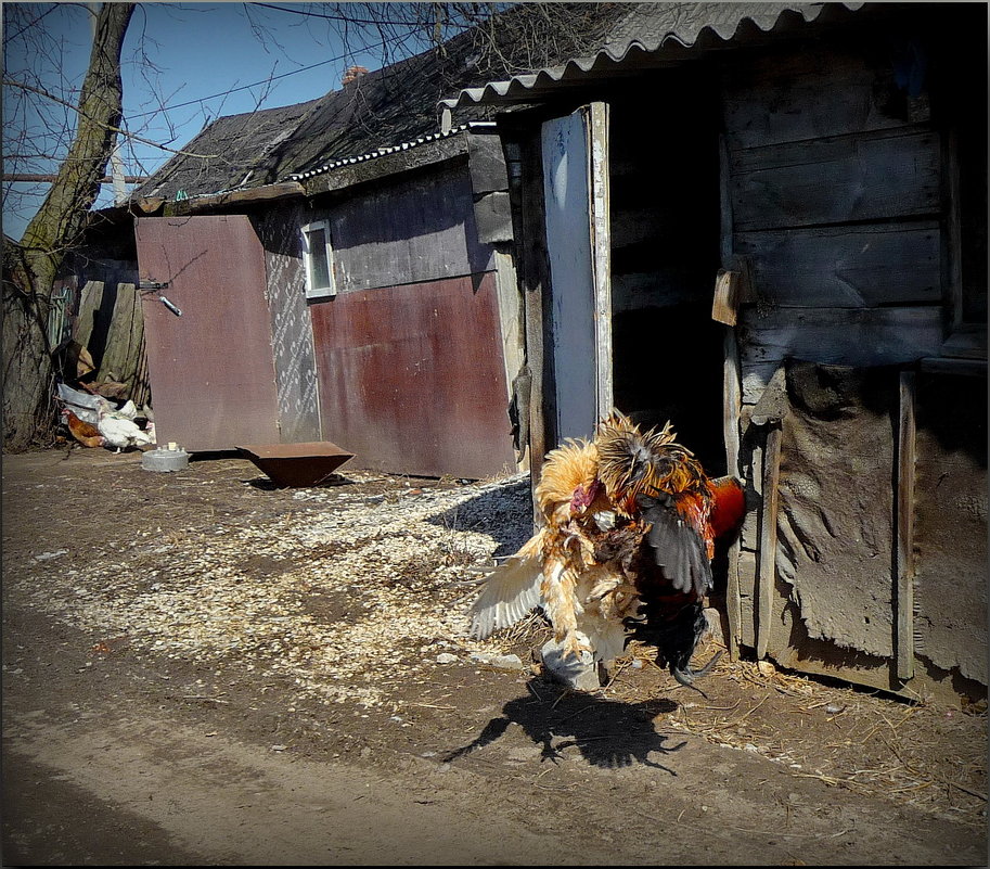
[[[985,705],[468,639],[525,477],[76,448],[2,494],[4,866],[987,864]]]

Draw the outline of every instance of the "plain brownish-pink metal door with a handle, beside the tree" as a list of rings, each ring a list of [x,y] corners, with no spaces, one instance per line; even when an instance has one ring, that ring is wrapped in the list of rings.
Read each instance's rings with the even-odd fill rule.
[[[279,437],[265,259],[244,215],[137,221],[155,431],[189,451]],[[181,316],[160,299],[165,296]]]

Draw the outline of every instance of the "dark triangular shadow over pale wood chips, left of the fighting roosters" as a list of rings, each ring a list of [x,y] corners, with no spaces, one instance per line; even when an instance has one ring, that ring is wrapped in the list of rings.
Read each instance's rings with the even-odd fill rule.
[[[520,515],[532,515],[528,476],[483,491],[426,521],[448,531],[487,534],[498,541],[492,558],[501,559],[515,553],[532,534],[530,525],[520,526]]]

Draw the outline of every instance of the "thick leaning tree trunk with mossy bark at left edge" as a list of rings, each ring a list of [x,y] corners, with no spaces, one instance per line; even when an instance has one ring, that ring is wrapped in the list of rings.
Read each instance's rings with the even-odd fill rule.
[[[103,3],[79,95],[76,136],[20,244],[3,256],[3,449],[17,451],[54,422],[48,312],[63,258],[79,241],[117,137],[120,50],[133,3]]]

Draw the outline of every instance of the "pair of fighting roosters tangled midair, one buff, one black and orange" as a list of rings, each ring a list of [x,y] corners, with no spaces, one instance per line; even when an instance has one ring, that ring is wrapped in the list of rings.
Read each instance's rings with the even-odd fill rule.
[[[657,649],[681,685],[705,630],[715,540],[745,509],[733,477],[706,476],[670,423],[641,432],[613,412],[593,440],[548,453],[536,489],[539,531],[489,575],[472,608],[485,638],[541,605],[565,653],[608,661],[630,639]]]

